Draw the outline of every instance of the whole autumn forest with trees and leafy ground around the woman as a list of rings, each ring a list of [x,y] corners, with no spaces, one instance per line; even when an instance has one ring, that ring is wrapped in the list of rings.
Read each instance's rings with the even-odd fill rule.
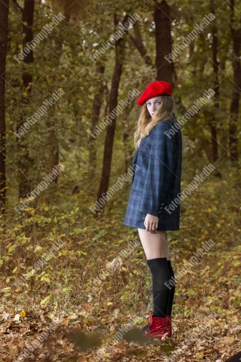
[[[1,0],[1,360],[221,362],[241,349],[240,13],[236,0]],[[143,347],[110,338],[152,308],[145,254],[140,243],[125,253],[139,237],[123,221],[140,112],[128,95],[155,80],[172,83],[185,119],[182,191],[215,169],[167,233],[180,277],[173,338]]]

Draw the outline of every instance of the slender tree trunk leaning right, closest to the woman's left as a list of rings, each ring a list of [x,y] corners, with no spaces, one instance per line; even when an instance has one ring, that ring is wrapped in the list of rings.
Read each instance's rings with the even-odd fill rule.
[[[123,24],[127,22],[127,20],[128,20],[128,15],[125,16]],[[116,19],[116,15],[114,14],[114,26],[116,27],[117,25],[118,21]],[[117,106],[118,87],[119,87],[119,81],[121,80],[122,67],[125,58],[125,47],[126,47],[126,36],[124,36],[123,38],[119,38],[115,42],[115,63],[112,74],[111,91],[109,97],[109,112],[111,112]],[[99,200],[102,197],[102,195],[107,192],[109,186],[115,123],[116,121],[114,118],[108,124],[106,130],[104,156],[102,164],[102,178],[100,181],[97,200]]]

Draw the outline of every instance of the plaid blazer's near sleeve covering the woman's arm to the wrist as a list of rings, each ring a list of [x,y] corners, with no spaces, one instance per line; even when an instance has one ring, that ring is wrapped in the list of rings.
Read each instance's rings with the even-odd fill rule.
[[[172,183],[177,157],[175,135],[168,136],[166,132],[169,128],[170,123],[161,121],[153,129],[148,170],[139,208],[141,212],[158,217]]]

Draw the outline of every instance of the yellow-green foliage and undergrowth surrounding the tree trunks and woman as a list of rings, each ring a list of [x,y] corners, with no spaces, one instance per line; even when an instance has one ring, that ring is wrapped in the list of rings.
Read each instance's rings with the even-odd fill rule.
[[[19,2],[22,7],[23,3]],[[35,2],[35,36],[51,21],[53,14],[62,12],[66,19],[38,44],[34,49],[34,62],[30,64],[18,64],[13,58],[22,49],[24,35],[19,21],[22,18],[20,9],[16,7],[14,13],[9,13],[5,74],[9,84],[6,86],[7,204],[5,217],[0,217],[1,302],[2,308],[10,309],[11,313],[19,308],[21,318],[25,317],[25,310],[32,308],[38,313],[38,318],[43,312],[48,318],[64,316],[63,324],[66,322],[66,325],[78,317],[80,327],[86,330],[92,327],[104,329],[106,323],[113,322],[110,327],[113,332],[115,324],[120,320],[124,324],[126,316],[133,314],[138,315],[135,324],[145,323],[152,295],[151,273],[140,245],[99,284],[93,283],[116,259],[118,252],[133,239],[139,240],[139,235],[135,228],[123,225],[131,181],[106,202],[99,214],[94,215],[90,210],[96,202],[101,180],[106,130],[94,142],[88,132],[92,129],[94,95],[97,94],[101,100],[98,123],[110,111],[108,101],[115,47],[106,51],[96,63],[89,56],[109,39],[125,14],[136,12],[141,16],[139,28],[152,64],[145,63],[134,45],[131,37],[135,32],[131,28],[124,35],[127,42],[125,58],[122,59],[123,73],[117,89],[118,100],[125,98],[134,87],[141,92],[149,79],[157,80],[154,67],[155,4],[133,0],[125,3],[77,3],[71,10],[66,10],[71,5],[67,0]],[[215,22],[207,26],[174,61],[173,95],[177,101],[178,117],[202,96],[205,89],[215,87],[211,60],[214,25],[218,38],[218,107],[211,99],[198,115],[182,126],[182,190],[210,163],[210,122],[213,118],[218,144],[218,160],[214,162],[216,169],[182,201],[180,230],[167,233],[175,272],[182,270],[205,241],[215,241],[215,245],[176,286],[173,309],[180,331],[178,338],[183,338],[186,346],[189,341],[184,340],[183,334],[185,330],[189,334],[193,327],[190,320],[198,324],[203,316],[211,313],[219,314],[223,320],[232,313],[235,316],[240,314],[240,164],[230,164],[228,143],[233,86],[233,44],[227,26],[230,19],[228,2],[215,0],[200,4],[192,0],[168,0],[167,3],[171,7],[173,49],[211,11],[211,3],[216,15]],[[235,8],[234,27],[238,24],[240,4],[235,4]],[[115,25],[114,15],[117,19]],[[100,65],[105,67],[102,76],[96,71]],[[23,85],[23,72],[33,76],[27,89]],[[104,90],[99,94],[101,84]],[[28,93],[30,87],[31,95]],[[19,150],[14,134],[19,121],[31,117],[58,88],[62,88],[65,94],[30,127],[21,139],[24,147]],[[23,102],[23,98],[27,102]],[[134,143],[131,131],[135,129],[139,112],[136,100],[134,103],[116,120],[109,187],[125,173],[132,158]],[[237,144],[240,150],[239,138]],[[90,163],[92,149],[96,158]],[[64,171],[59,175],[57,184],[52,182],[18,214],[14,207],[22,201],[18,199],[22,172],[19,161],[25,159],[26,150],[31,158],[29,174],[26,175],[30,191],[51,171],[55,151],[58,151],[58,161]],[[62,240],[63,246],[39,267],[38,261],[57,240]],[[18,285],[21,280],[22,284]],[[215,327],[218,323],[222,336],[226,324],[216,319],[213,322]],[[210,335],[210,339],[212,337]],[[76,344],[82,346],[79,334],[73,334],[74,338]],[[92,342],[88,343],[91,345]],[[163,347],[163,351],[171,349],[170,345]],[[216,350],[212,354],[213,360],[217,359]],[[142,350],[140,353],[146,352]],[[147,359],[149,355],[144,357]],[[197,357],[202,358],[201,353]]]

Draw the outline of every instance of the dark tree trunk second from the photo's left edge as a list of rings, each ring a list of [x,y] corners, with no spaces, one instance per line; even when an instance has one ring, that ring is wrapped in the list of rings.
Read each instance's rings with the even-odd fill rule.
[[[23,10],[23,48],[28,42],[33,40],[33,20],[34,20],[34,0],[24,1]],[[24,23],[27,23],[25,25]],[[34,61],[33,50],[23,60],[26,64]],[[24,103],[29,103],[32,88],[32,74],[29,71],[23,73],[23,99]],[[27,96],[28,97],[27,97]],[[24,119],[20,119],[17,130],[25,123]],[[33,164],[33,159],[29,155],[28,142],[26,136],[17,139],[18,141],[18,168],[19,168],[19,198],[25,198],[30,192],[31,180],[29,178],[29,168]]]

